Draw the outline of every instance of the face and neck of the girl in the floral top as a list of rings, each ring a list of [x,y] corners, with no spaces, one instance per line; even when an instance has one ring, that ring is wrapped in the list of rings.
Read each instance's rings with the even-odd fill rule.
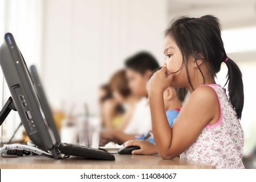
[[[187,73],[184,67],[182,67],[182,53],[172,39],[171,36],[165,38],[165,64],[167,69],[174,73],[174,79],[170,86],[172,87],[186,87],[187,86]],[[189,61],[190,62],[190,61]],[[188,64],[189,64],[188,62]],[[189,65],[188,65],[189,66]]]

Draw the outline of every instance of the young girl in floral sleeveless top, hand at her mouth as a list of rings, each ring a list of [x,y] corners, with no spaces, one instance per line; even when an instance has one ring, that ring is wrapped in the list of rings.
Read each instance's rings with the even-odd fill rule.
[[[242,73],[227,57],[218,19],[180,18],[165,35],[167,66],[149,82],[157,151],[163,159],[180,155],[216,168],[244,168],[244,134],[240,125],[244,106]],[[229,98],[214,81],[221,64],[228,68]],[[172,128],[163,102],[167,86],[186,87],[191,94]]]

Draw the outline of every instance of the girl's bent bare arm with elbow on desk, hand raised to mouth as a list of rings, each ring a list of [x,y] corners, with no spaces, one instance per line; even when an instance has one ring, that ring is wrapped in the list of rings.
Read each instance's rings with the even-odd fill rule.
[[[157,151],[163,159],[173,159],[180,155],[195,142],[207,123],[219,119],[216,94],[211,88],[202,86],[191,94],[171,128],[165,114],[163,90],[170,85],[172,79],[168,70],[162,68],[150,80],[152,131]]]

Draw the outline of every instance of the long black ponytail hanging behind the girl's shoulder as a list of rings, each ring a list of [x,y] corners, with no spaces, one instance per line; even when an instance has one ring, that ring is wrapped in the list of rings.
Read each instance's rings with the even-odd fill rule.
[[[236,114],[240,119],[244,107],[244,84],[242,81],[242,73],[232,59],[227,57],[225,63],[228,68],[227,83],[229,83],[229,101],[234,107],[234,110],[236,110]]]

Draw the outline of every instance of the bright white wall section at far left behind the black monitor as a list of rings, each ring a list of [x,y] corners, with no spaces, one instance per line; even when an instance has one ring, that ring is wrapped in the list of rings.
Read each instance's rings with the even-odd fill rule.
[[[27,64],[39,65],[42,49],[40,41],[42,32],[42,0],[0,0],[0,2],[0,44],[3,42],[3,34],[11,32]],[[10,92],[5,82],[3,85],[3,73],[2,71],[0,72],[0,100],[2,101],[3,96],[3,103],[5,103],[10,97]],[[8,140],[12,136],[19,123],[18,112],[10,112],[3,124],[3,140]],[[22,129],[23,127],[20,128],[14,139],[21,138]]]

